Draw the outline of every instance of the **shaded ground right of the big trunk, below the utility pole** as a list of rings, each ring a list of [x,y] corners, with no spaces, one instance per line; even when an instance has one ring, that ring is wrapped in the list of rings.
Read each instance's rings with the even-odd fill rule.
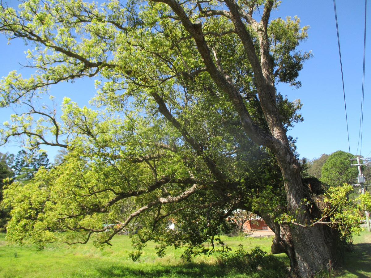
[[[371,243],[358,243],[354,245],[353,252],[344,256],[344,263],[339,275],[350,272],[359,278],[370,278],[371,274]],[[363,274],[365,272],[366,274]]]

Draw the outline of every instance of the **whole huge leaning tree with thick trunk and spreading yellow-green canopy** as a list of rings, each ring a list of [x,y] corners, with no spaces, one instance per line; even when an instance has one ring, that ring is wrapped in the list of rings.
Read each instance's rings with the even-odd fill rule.
[[[166,245],[185,244],[189,257],[211,252],[202,243],[214,248],[225,219],[244,209],[275,232],[272,252],[288,255],[293,277],[328,269],[339,232],[312,200],[319,192],[303,185],[286,135],[302,120],[301,103],[275,88],[300,86],[310,53],[297,47],[307,27],[298,18],[270,20],[277,5],[3,3],[0,31],[34,47],[25,66],[35,73],[1,80],[1,106],[21,109],[2,139],[68,149],[59,166],[6,190],[8,239],[109,244],[137,229],[139,248],[151,239],[161,255]],[[58,117],[40,100],[49,85],[82,77],[97,80],[96,110],[65,99]],[[167,231],[169,219],[181,232]]]

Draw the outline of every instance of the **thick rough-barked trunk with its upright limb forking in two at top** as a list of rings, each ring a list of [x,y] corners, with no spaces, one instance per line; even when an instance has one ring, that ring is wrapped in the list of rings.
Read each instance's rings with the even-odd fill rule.
[[[250,35],[240,19],[237,3],[233,0],[226,0],[226,4],[233,15],[232,22],[246,49],[255,74],[260,106],[267,120],[269,130],[276,140],[259,142],[259,136],[254,134],[254,130],[249,129],[247,125],[243,125],[243,128],[256,143],[262,143],[273,151],[282,172],[288,211],[291,216],[295,217],[298,224],[310,225],[313,217],[303,201],[307,196],[301,181],[299,163],[290,150],[286,130],[282,125],[276,105],[275,82],[271,76],[273,65],[270,62],[267,22],[272,3],[271,1],[270,6],[266,6],[260,27],[257,28],[260,44],[260,64],[257,65],[257,56]],[[239,114],[242,116],[242,113]],[[275,226],[276,224],[272,225]],[[272,251],[281,251],[288,255],[293,277],[312,277],[316,272],[328,269],[329,261],[333,258],[333,241],[329,240],[322,225],[314,225],[310,228],[299,225],[285,225],[275,230],[276,238],[273,242]]]

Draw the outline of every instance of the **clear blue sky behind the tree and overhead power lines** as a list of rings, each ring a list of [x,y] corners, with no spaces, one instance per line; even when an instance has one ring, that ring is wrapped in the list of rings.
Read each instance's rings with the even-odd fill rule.
[[[16,1],[10,1],[13,5]],[[364,1],[338,0],[336,2],[339,24],[339,36],[344,72],[345,96],[348,112],[348,126],[351,153],[356,154],[359,133],[359,116],[361,108],[363,36],[364,36]],[[370,156],[370,87],[371,87],[371,5],[367,11],[366,72],[363,118],[363,156]],[[348,151],[347,126],[345,121],[344,97],[341,83],[338,43],[334,6],[331,0],[283,0],[272,13],[275,17],[298,16],[302,26],[309,25],[309,38],[300,46],[304,51],[312,50],[313,58],[304,65],[299,79],[300,89],[279,85],[278,90],[289,99],[301,99],[301,113],[304,122],[297,124],[289,135],[298,137],[297,147],[301,157],[318,158],[322,153],[336,150]],[[0,76],[6,76],[10,70],[20,70],[19,63],[24,63],[27,47],[21,40],[14,40],[7,45],[4,35],[0,35]],[[87,105],[94,95],[92,80],[81,80],[76,83],[52,87],[52,95],[61,103],[64,96]],[[9,111],[0,111],[1,122],[9,119]],[[16,147],[5,146],[0,152],[16,153]],[[53,157],[55,149],[47,148]],[[358,149],[358,154],[360,150]]]

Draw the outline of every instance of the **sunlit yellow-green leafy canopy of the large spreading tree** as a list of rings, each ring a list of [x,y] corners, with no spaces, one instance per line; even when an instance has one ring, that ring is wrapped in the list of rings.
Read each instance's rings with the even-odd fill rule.
[[[187,7],[187,13],[202,20],[219,70],[239,88],[255,124],[269,132],[233,25],[224,17],[204,17],[196,7]],[[140,215],[144,228],[138,240],[145,242],[164,238],[161,231],[176,212],[190,235],[163,240],[193,248],[226,230],[224,219],[236,208],[273,218],[285,211],[272,153],[240,129],[236,110],[167,5],[31,0],[18,10],[3,6],[1,22],[10,39],[22,37],[35,47],[27,57],[36,69],[28,79],[11,72],[1,81],[2,106],[29,107],[4,123],[4,142],[27,134],[22,142],[30,149],[43,144],[69,149],[60,166],[7,189],[7,202],[14,206],[9,239],[21,242],[30,234],[42,246],[55,237],[74,243],[93,236],[109,243],[129,224],[137,225]],[[297,18],[270,23],[278,82],[296,82],[309,57],[296,50],[306,29]],[[84,76],[98,78],[97,110],[65,99],[58,118],[55,110],[32,102],[47,94],[48,85]],[[299,100],[277,93],[276,102],[286,129],[302,121]]]

